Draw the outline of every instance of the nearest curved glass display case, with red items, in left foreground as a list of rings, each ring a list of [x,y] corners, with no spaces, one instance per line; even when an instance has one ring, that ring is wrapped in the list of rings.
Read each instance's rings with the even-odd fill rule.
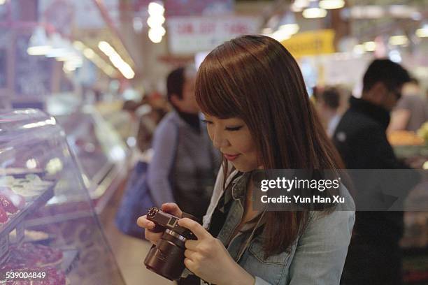
[[[63,129],[0,112],[0,284],[124,284]]]

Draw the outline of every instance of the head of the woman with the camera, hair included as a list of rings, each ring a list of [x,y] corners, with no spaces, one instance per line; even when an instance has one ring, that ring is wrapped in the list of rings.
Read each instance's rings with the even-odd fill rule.
[[[334,168],[299,66],[278,41],[241,36],[215,48],[196,96],[215,147],[237,154],[238,170]]]

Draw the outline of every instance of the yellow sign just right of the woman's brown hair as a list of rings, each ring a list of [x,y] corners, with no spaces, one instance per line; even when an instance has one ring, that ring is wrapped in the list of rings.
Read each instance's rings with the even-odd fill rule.
[[[304,31],[281,42],[293,57],[334,52],[334,30]]]

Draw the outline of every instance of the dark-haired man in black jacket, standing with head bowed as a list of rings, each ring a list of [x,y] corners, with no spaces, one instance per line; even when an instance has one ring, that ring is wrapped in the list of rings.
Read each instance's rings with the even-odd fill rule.
[[[350,98],[350,108],[334,132],[334,144],[348,169],[407,168],[394,155],[386,129],[401,87],[409,80],[408,72],[389,59],[370,64],[362,98]],[[401,284],[402,234],[402,212],[357,212],[341,284]]]

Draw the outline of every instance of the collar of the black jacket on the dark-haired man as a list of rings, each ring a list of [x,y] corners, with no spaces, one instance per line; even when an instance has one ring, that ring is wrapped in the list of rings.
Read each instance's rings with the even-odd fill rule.
[[[385,130],[390,124],[390,112],[385,108],[353,96],[351,96],[349,103],[350,110],[361,112],[364,115],[371,117],[371,119],[374,119],[376,122],[381,124]]]

